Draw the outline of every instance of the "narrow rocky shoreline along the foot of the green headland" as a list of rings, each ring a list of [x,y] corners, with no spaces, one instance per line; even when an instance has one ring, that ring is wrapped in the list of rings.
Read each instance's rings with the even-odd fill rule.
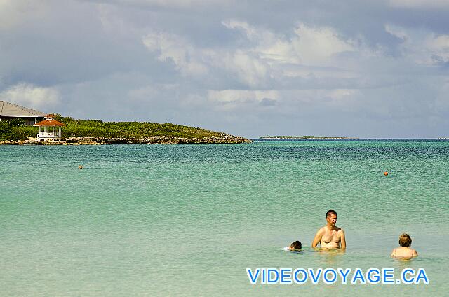
[[[243,144],[252,142],[250,139],[222,134],[203,138],[182,137],[145,137],[138,138],[105,138],[105,137],[67,137],[60,141],[39,141],[35,138],[27,140],[5,140],[0,145],[101,145],[101,144]]]

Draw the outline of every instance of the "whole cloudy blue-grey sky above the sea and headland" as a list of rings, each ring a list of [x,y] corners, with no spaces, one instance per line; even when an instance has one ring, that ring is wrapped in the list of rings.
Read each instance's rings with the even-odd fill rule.
[[[447,0],[0,0],[0,100],[243,137],[449,137]]]

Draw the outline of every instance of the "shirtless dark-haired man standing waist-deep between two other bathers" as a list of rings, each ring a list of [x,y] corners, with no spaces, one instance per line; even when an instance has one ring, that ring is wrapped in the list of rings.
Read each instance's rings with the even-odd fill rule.
[[[314,242],[311,243],[311,247],[316,247],[320,244],[321,248],[326,249],[346,249],[346,239],[344,238],[344,231],[342,228],[335,226],[337,223],[337,212],[335,210],[329,210],[326,213],[326,226],[318,230],[315,235]]]

